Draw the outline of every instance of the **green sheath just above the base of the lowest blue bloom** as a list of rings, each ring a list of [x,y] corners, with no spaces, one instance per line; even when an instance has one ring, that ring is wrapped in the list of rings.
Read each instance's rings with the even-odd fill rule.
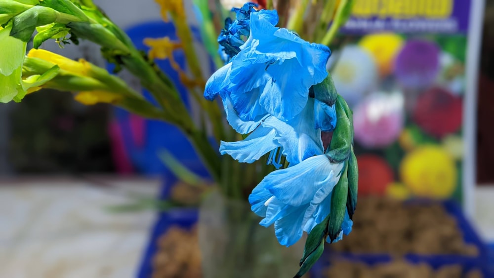
[[[344,101],[344,100],[343,100]],[[345,102],[346,103],[346,102]],[[333,162],[341,162],[348,159],[353,144],[353,127],[348,119],[341,99],[336,100],[336,127],[333,131],[331,143],[326,151],[329,159]]]

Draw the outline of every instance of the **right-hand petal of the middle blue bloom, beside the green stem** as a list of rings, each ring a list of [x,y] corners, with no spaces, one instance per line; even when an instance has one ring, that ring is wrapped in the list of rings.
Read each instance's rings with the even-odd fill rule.
[[[314,99],[309,99],[304,110],[285,122],[267,117],[261,125],[276,129],[276,139],[283,147],[288,162],[298,164],[312,156],[322,155],[321,130],[314,128]]]

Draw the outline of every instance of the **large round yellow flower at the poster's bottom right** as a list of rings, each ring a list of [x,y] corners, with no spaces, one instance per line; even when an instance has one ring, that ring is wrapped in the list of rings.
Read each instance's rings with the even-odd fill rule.
[[[419,197],[451,197],[457,182],[454,161],[436,145],[417,147],[403,159],[402,181]]]

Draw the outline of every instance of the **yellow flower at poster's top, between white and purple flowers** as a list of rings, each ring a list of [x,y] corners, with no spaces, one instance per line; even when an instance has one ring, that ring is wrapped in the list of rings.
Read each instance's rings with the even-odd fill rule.
[[[393,69],[393,61],[403,45],[403,39],[392,33],[367,35],[359,45],[374,57],[381,76],[388,75]]]

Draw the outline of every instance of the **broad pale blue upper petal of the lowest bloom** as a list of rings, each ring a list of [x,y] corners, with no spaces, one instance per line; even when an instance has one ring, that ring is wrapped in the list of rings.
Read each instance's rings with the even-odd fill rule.
[[[342,164],[331,163],[325,155],[315,156],[295,166],[271,172],[258,186],[265,187],[276,199],[291,206],[308,204],[323,186],[336,184],[331,172],[341,172]]]

